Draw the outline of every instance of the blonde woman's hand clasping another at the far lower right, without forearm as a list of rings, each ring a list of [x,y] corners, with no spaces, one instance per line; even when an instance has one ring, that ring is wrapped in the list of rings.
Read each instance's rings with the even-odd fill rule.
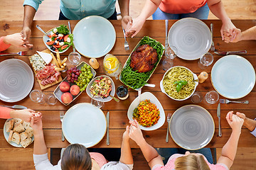
[[[234,115],[233,111],[228,112],[226,115],[226,120],[228,121],[228,124],[232,128],[233,132],[241,132],[242,124],[244,120],[238,115]]]

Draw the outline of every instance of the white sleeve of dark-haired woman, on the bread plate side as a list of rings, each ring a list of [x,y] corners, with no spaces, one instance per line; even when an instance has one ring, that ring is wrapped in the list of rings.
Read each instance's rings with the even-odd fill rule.
[[[58,165],[53,166],[48,159],[48,154],[33,154],[33,161],[36,170],[61,170],[60,162]]]

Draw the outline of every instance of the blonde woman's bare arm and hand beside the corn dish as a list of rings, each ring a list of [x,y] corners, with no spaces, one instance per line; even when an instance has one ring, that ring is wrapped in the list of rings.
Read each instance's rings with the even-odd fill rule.
[[[156,149],[149,145],[142,135],[142,130],[139,128],[139,123],[136,120],[131,122],[129,128],[129,137],[137,143],[139,148],[142,150],[146,162],[148,162],[150,168],[152,169],[154,165],[160,164],[164,166],[161,156],[157,153]]]

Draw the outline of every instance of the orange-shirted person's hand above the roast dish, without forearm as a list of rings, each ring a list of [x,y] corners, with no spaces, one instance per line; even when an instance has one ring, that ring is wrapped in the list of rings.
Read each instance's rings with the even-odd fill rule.
[[[145,21],[140,19],[139,17],[134,18],[134,20],[127,23],[127,28],[125,28],[125,35],[127,37],[133,38],[142,29],[142,26],[144,23],[145,23]]]

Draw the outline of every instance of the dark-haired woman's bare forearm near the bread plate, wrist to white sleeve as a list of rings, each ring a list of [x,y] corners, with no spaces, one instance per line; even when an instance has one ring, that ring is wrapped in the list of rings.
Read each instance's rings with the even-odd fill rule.
[[[43,130],[34,132],[34,147],[33,154],[46,154],[47,147],[43,137]]]

